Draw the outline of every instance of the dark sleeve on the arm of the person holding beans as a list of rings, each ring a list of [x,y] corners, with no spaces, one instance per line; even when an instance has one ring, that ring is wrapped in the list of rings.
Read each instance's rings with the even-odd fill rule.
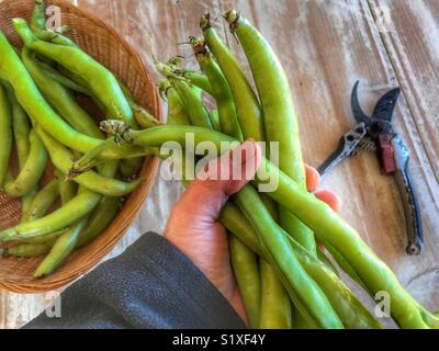
[[[72,284],[60,302],[60,318],[43,313],[24,328],[245,328],[204,274],[155,233]]]

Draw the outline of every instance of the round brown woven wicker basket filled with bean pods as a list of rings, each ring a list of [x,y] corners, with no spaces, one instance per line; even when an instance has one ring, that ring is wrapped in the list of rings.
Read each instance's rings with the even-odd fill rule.
[[[69,36],[88,54],[116,73],[128,87],[134,98],[160,118],[160,104],[154,81],[139,56],[110,26],[95,16],[85,13],[67,1],[46,1],[61,9],[63,25],[67,25]],[[34,9],[33,0],[0,1],[0,29],[13,45],[21,41],[12,26],[12,19],[30,19]],[[142,208],[157,174],[159,160],[145,160],[142,176],[145,181],[127,199],[123,210],[109,228],[87,247],[75,251],[66,263],[54,274],[35,280],[32,274],[42,259],[0,258],[0,288],[18,293],[41,293],[58,288],[72,282],[93,268],[117,244]],[[45,178],[49,178],[50,171]],[[46,179],[47,181],[47,179]],[[15,225],[20,220],[20,202],[0,193],[0,229]]]

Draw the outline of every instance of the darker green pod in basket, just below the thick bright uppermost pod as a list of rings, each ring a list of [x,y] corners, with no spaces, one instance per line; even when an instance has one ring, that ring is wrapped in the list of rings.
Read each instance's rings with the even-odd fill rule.
[[[77,131],[97,139],[103,139],[103,135],[93,118],[83,111],[75,101],[71,93],[63,84],[53,79],[40,68],[35,55],[26,47],[22,52],[23,64],[31,73],[40,91],[47,102],[54,106],[60,115]]]

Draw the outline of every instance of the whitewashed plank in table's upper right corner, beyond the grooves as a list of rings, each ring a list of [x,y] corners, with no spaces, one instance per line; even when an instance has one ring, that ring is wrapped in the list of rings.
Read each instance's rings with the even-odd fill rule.
[[[381,37],[428,156],[426,161],[438,177],[439,2],[370,0],[370,8],[375,22],[385,23]]]

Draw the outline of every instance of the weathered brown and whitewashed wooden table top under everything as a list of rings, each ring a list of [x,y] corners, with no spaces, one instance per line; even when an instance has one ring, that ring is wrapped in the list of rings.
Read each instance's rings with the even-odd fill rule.
[[[398,192],[382,177],[373,155],[338,167],[322,185],[340,194],[342,216],[396,272],[414,296],[439,309],[439,1],[437,0],[79,0],[77,4],[113,25],[150,63],[190,56],[178,43],[200,33],[199,18],[240,10],[260,29],[289,75],[301,125],[305,160],[318,166],[352,126],[349,94],[362,81],[370,112],[378,97],[399,86],[396,127],[412,154],[410,171],[423,208],[426,249],[404,253],[406,237]],[[222,21],[223,37],[243,59]],[[188,64],[194,66],[193,58]],[[140,217],[116,254],[145,230],[162,230],[181,194],[177,183],[157,180]],[[0,292],[0,327],[25,324],[53,294]]]

